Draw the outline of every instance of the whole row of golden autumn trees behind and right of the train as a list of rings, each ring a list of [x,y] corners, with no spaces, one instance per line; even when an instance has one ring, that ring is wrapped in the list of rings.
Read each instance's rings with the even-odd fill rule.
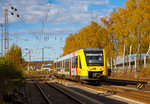
[[[128,0],[124,8],[117,8],[108,17],[91,23],[66,39],[63,55],[80,48],[103,48],[106,56],[116,58],[124,52],[146,53],[150,45],[150,2],[149,0]]]

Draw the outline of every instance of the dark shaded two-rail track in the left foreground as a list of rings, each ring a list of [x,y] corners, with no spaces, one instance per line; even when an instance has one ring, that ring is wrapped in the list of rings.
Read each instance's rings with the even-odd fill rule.
[[[42,81],[41,79],[34,78],[32,79],[38,91],[40,91],[43,99],[47,104],[85,104],[74,96],[66,93],[62,89],[58,88],[55,84],[52,83],[38,83],[34,80]]]

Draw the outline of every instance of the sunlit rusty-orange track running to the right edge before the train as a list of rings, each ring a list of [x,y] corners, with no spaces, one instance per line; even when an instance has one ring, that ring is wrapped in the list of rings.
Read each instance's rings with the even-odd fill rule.
[[[68,81],[68,82],[75,83],[75,84],[78,84],[79,86],[84,86],[84,87],[91,88],[94,90],[104,91],[106,93],[110,93],[113,95],[119,95],[119,96],[126,97],[129,99],[137,100],[140,102],[150,103],[150,92],[141,91],[138,89],[133,90],[133,89],[128,89],[128,88],[119,88],[119,86],[118,87],[113,87],[110,85],[93,86],[93,85],[88,85],[88,84],[80,84],[79,82],[72,82],[72,81]]]

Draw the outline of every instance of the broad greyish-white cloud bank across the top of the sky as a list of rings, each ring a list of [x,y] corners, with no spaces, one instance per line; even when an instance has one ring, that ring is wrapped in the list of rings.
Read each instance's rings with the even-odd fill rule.
[[[7,2],[6,2],[7,1]],[[104,5],[108,4],[109,0],[56,0],[59,4],[50,5],[47,22],[52,24],[87,24],[91,19],[88,6],[90,4]],[[17,19],[16,14],[10,15],[9,22],[24,21],[25,23],[38,23],[45,19],[48,12],[48,1],[47,0],[0,0],[3,4],[0,4],[1,8],[13,6],[17,8],[16,14],[20,17]],[[64,4],[64,5],[63,5]],[[8,6],[9,5],[9,6]],[[9,7],[9,11],[13,11]],[[100,12],[97,11],[99,15]],[[95,15],[95,16],[96,16]],[[102,15],[102,14],[101,14]],[[4,15],[3,15],[4,18]]]

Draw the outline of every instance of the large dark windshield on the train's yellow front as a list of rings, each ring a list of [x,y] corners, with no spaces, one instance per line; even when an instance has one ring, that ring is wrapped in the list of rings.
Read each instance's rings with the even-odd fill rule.
[[[87,66],[103,66],[103,51],[85,51]]]

